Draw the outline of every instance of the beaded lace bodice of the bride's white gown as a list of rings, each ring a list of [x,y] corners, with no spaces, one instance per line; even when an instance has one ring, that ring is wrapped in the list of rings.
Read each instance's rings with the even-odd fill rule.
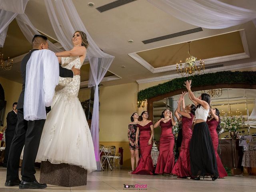
[[[67,69],[75,68],[80,69],[82,66],[79,56],[75,57],[62,57],[61,66]],[[60,77],[58,86],[55,88],[55,93],[63,93],[67,96],[78,96],[80,89],[80,75],[76,75],[73,78],[62,78]]]

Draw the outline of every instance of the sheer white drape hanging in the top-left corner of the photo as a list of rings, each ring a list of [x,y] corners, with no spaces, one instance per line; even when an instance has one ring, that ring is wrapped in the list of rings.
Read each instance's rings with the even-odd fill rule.
[[[4,46],[9,24],[24,13],[27,3],[28,0],[0,0],[0,47]]]

